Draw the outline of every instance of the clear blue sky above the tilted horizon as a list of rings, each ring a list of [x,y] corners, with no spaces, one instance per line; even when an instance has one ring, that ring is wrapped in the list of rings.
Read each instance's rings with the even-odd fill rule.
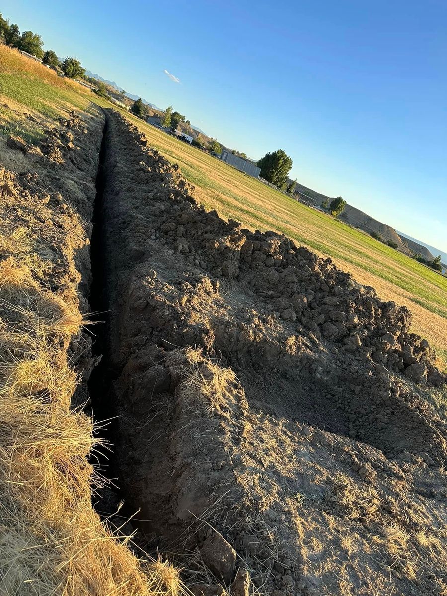
[[[2,0],[1,11],[250,157],[283,148],[302,184],[447,252],[447,2]]]

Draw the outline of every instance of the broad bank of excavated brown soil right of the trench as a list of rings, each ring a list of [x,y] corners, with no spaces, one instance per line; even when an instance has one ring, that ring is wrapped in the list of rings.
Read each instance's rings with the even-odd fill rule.
[[[212,572],[196,594],[447,594],[446,425],[422,398],[446,378],[409,311],[206,212],[107,119],[103,407],[139,527]]]

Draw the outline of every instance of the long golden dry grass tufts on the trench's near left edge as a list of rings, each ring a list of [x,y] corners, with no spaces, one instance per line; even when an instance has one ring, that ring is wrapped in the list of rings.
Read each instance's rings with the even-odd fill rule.
[[[61,346],[82,317],[43,293],[29,269],[0,265],[2,594],[179,594],[163,561],[147,572],[91,505],[91,418],[70,411],[76,375]]]

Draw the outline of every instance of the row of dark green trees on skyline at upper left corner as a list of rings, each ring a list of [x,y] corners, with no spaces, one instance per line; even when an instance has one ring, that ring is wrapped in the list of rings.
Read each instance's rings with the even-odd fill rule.
[[[27,52],[42,60],[44,64],[54,68],[60,69],[65,76],[70,79],[79,79],[85,76],[85,69],[80,64],[77,58],[67,56],[63,60],[59,60],[52,49],[44,51],[44,42],[38,33],[32,31],[24,31],[20,33],[20,29],[16,23],[3,17],[0,13],[0,41],[10,46],[10,48],[18,49],[22,52]]]

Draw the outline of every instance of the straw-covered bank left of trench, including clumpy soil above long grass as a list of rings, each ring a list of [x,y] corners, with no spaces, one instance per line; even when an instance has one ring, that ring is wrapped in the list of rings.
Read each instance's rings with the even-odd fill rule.
[[[92,508],[104,480],[88,457],[107,446],[92,419],[70,409],[78,378],[67,358],[70,342],[86,341],[73,260],[86,242],[79,216],[53,213],[23,197],[13,173],[0,175],[0,594],[182,594],[178,570],[139,561]]]

